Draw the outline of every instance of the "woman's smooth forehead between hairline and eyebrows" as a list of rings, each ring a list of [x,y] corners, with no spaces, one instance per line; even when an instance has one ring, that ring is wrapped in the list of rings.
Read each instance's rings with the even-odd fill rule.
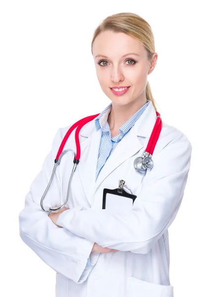
[[[146,49],[132,36],[125,33],[105,31],[100,33],[93,44],[93,55],[105,55],[110,58],[122,57],[126,53],[145,54]]]

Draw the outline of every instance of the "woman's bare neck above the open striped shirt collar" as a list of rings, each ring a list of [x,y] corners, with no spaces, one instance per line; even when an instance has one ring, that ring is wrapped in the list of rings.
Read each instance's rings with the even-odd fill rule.
[[[107,119],[110,131],[117,132],[117,134],[119,134],[119,128],[146,103],[146,98],[144,100],[130,102],[129,104],[122,106],[112,102],[111,111]]]

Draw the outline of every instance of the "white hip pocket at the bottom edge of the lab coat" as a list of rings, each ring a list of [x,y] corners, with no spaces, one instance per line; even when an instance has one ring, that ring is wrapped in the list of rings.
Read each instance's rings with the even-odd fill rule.
[[[127,278],[126,297],[173,297],[173,286],[163,286],[142,281],[129,276]]]

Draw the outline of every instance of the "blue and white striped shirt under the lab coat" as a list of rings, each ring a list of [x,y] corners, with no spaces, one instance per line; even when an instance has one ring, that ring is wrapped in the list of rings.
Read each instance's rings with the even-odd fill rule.
[[[106,160],[116,147],[116,145],[120,142],[120,140],[128,133],[128,131],[133,127],[135,122],[140,118],[143,114],[145,109],[147,108],[150,100],[147,100],[136,113],[134,113],[128,120],[119,128],[119,134],[116,136],[111,137],[111,131],[107,122],[108,115],[111,111],[111,104],[110,103],[96,118],[95,118],[95,127],[96,131],[102,129],[102,137],[99,147],[99,155],[98,155],[98,162],[97,162],[97,170],[96,170],[96,181],[101,172],[102,168],[105,165]],[[87,261],[88,266],[91,265],[90,257]]]

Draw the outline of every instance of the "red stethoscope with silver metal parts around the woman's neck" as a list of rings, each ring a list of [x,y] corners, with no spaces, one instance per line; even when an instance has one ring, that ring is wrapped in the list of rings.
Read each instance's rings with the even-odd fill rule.
[[[71,180],[72,180],[72,176],[73,176],[73,173],[76,169],[76,166],[77,164],[79,163],[79,159],[80,159],[80,154],[81,154],[81,151],[80,151],[80,143],[79,143],[79,132],[81,130],[81,128],[87,124],[88,122],[92,121],[93,119],[95,119],[100,113],[97,113],[95,115],[90,115],[90,116],[87,116],[79,121],[77,121],[76,123],[74,123],[67,131],[66,135],[64,136],[61,144],[60,144],[60,147],[58,149],[58,152],[57,152],[57,155],[55,157],[55,160],[54,160],[54,167],[53,167],[53,170],[52,170],[52,176],[51,176],[51,179],[50,179],[50,182],[45,190],[45,193],[43,194],[42,198],[41,198],[41,202],[40,202],[40,205],[42,207],[43,210],[45,211],[48,211],[48,212],[58,212],[67,202],[68,200],[68,195],[69,195],[69,189],[70,189],[70,183],[71,183]],[[152,131],[152,134],[150,136],[150,139],[149,139],[149,142],[148,142],[148,145],[147,145],[147,148],[145,150],[145,152],[143,153],[143,156],[142,157],[137,157],[135,160],[134,160],[134,167],[135,169],[140,173],[140,174],[146,174],[146,171],[148,168],[153,168],[154,166],[154,163],[153,163],[153,160],[152,160],[152,155],[153,155],[153,151],[155,149],[155,146],[157,144],[157,140],[158,140],[158,137],[159,137],[159,134],[160,134],[160,131],[162,129],[162,120],[161,120],[161,117],[160,117],[160,114],[159,112],[156,111],[156,114],[157,114],[157,119],[156,119],[156,123],[155,123],[155,126],[153,128],[153,131]],[[71,132],[75,129],[75,142],[76,142],[76,150],[77,150],[77,153],[75,154],[75,152],[68,148],[68,149],[65,149],[63,150],[64,146],[65,146],[65,143],[66,141],[68,140]],[[50,206],[43,206],[43,199],[45,198],[46,196],[46,193],[52,183],[52,178],[53,178],[53,175],[54,175],[54,172],[55,172],[55,169],[56,167],[59,165],[60,163],[60,160],[62,158],[62,156],[69,150],[72,150],[74,152],[74,160],[73,160],[73,169],[72,169],[72,172],[71,172],[71,176],[69,178],[69,182],[68,182],[68,191],[67,191],[67,195],[66,195],[66,199],[65,199],[65,202],[60,206],[60,207],[57,207],[57,208],[51,208]]]

